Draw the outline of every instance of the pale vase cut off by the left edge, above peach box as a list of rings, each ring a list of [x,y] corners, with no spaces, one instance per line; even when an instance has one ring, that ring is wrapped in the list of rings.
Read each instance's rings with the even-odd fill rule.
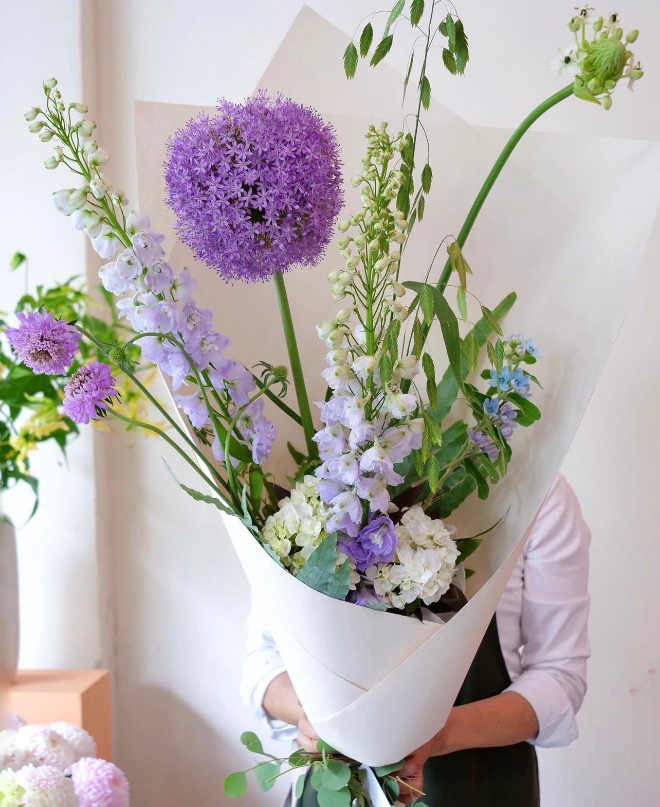
[[[19,663],[19,564],[14,525],[0,516],[0,681]]]

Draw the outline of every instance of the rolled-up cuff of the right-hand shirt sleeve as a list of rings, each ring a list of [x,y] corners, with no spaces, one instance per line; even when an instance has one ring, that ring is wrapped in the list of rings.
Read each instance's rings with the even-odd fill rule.
[[[538,734],[529,740],[533,746],[556,748],[577,739],[578,726],[571,701],[549,672],[526,670],[504,692],[517,692],[534,710]]]

